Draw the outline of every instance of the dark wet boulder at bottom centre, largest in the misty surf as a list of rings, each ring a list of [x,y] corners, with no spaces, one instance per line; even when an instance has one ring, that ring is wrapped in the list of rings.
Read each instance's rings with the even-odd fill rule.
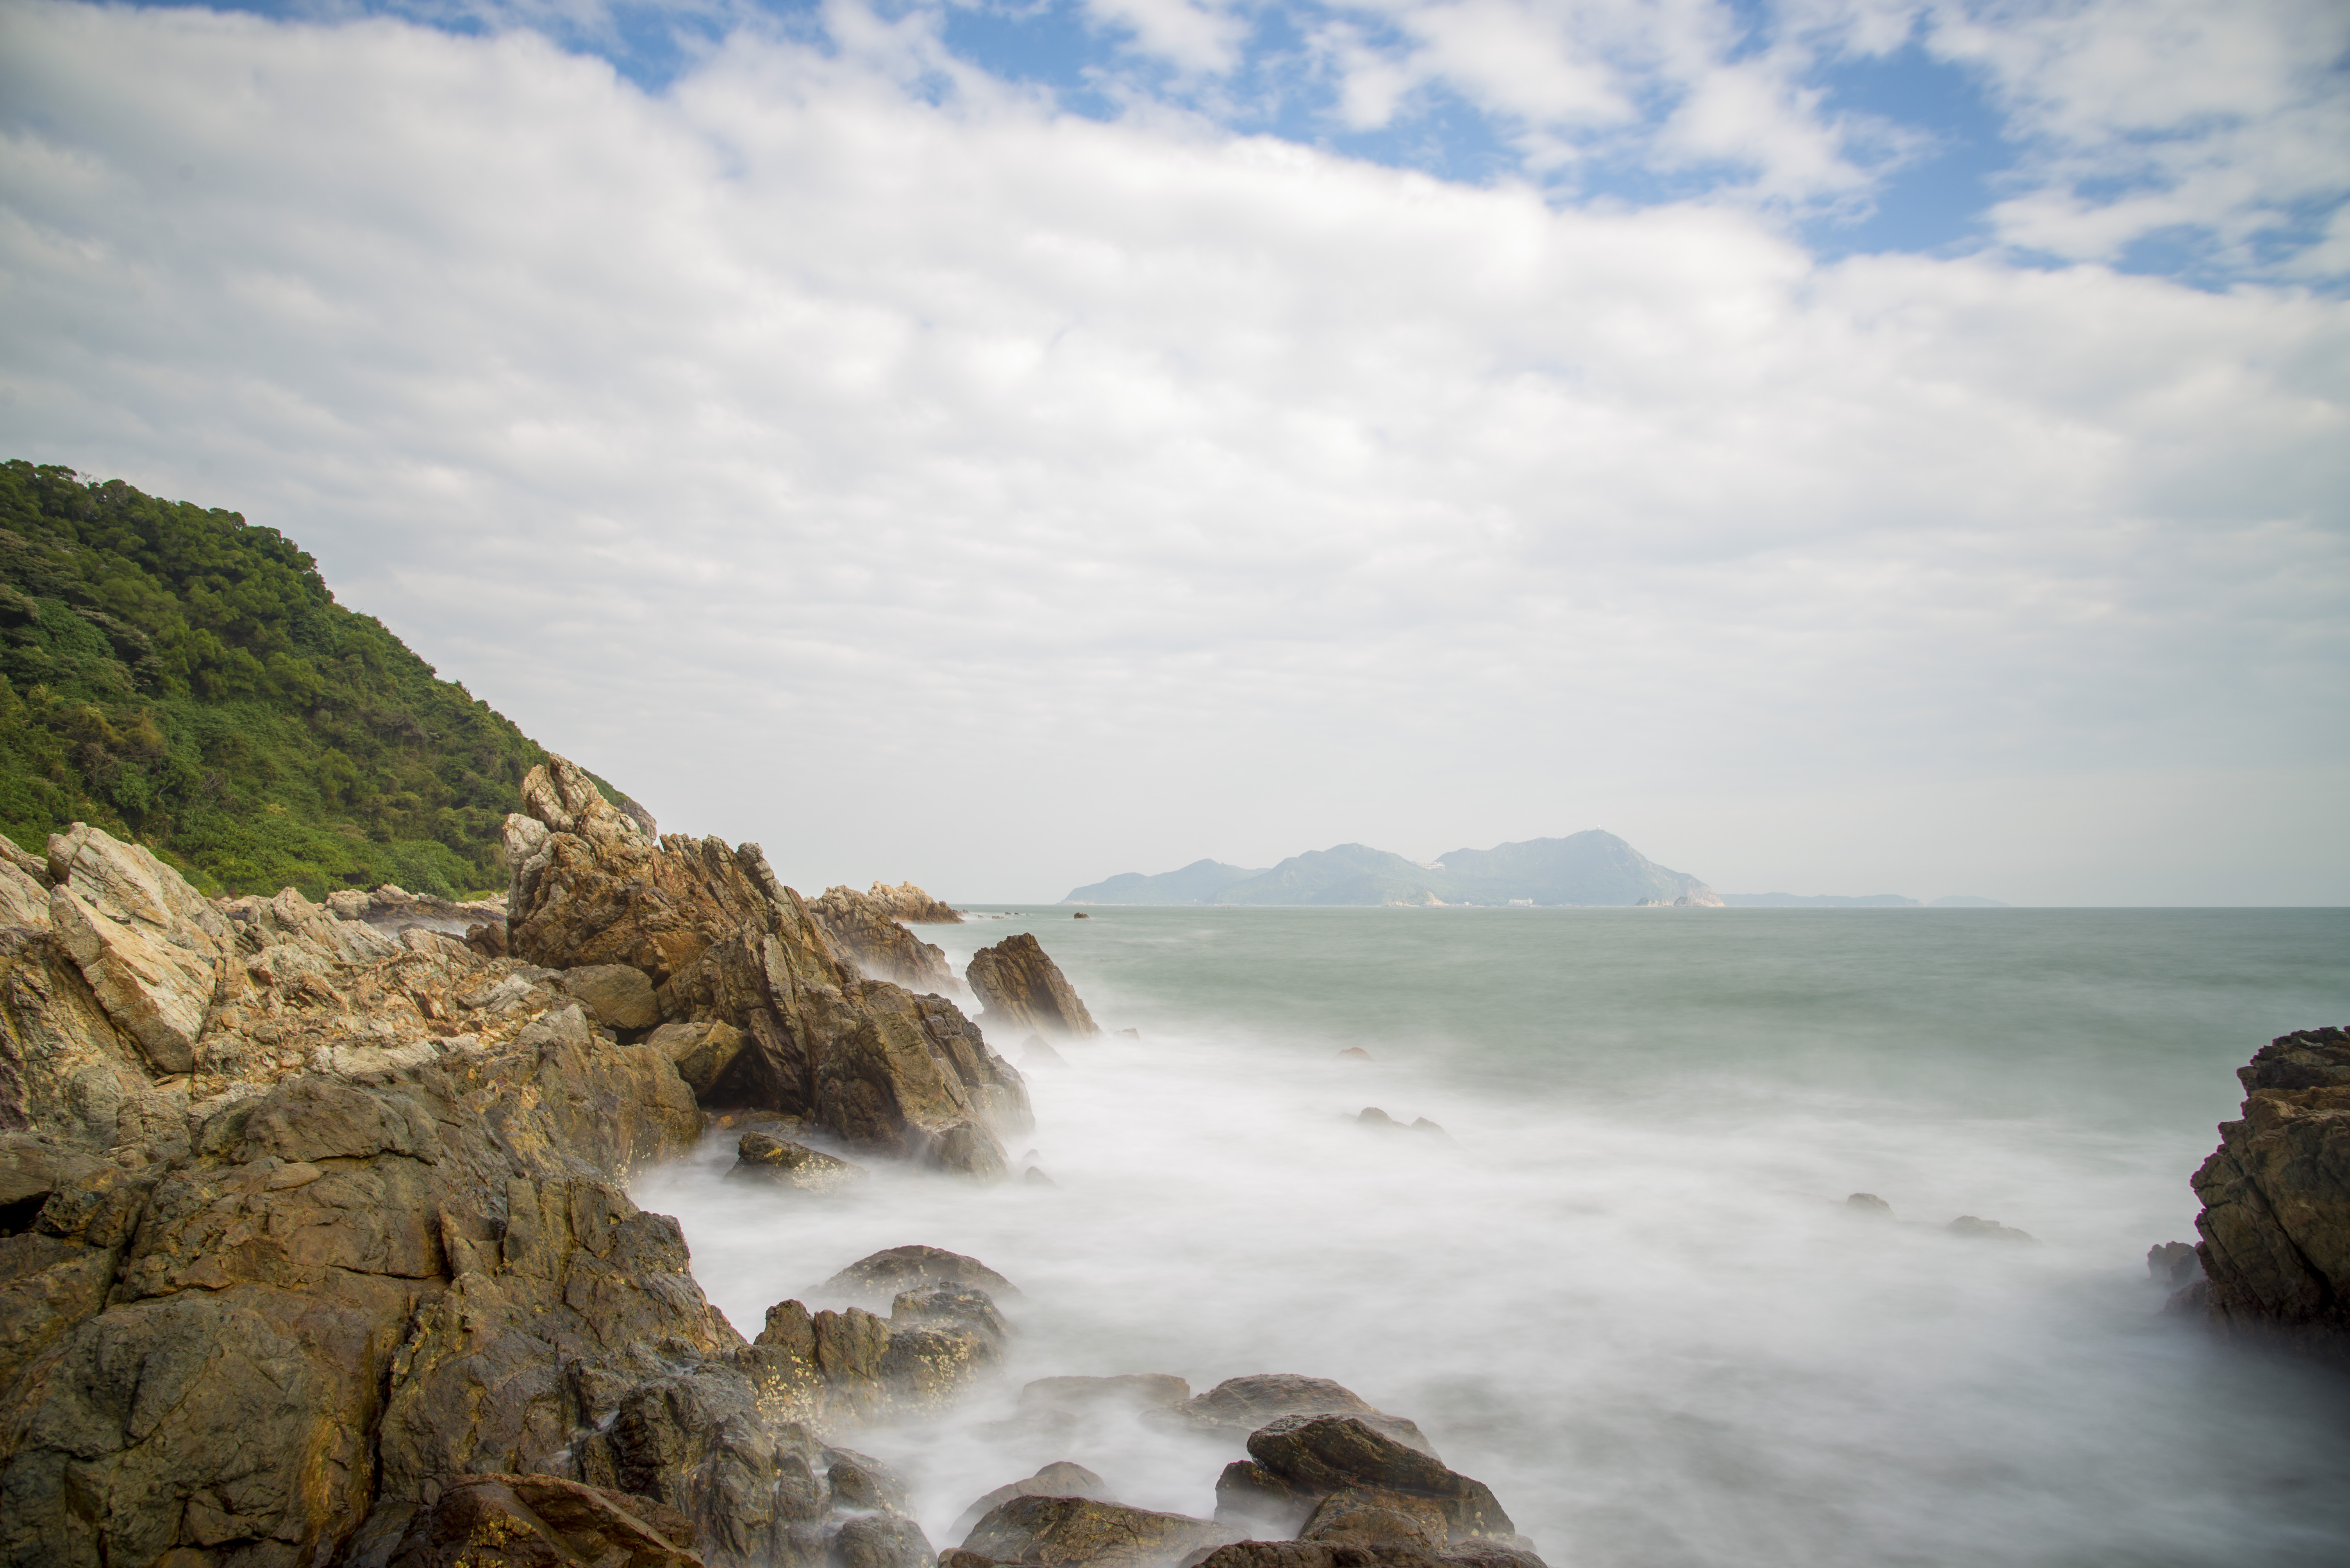
[[[1248,1455],[1217,1479],[1217,1519],[1309,1523],[1335,1493],[1370,1488],[1424,1502],[1443,1519],[1448,1545],[1518,1537],[1492,1488],[1445,1469],[1361,1415],[1283,1415],[1248,1434]],[[1403,1502],[1389,1505],[1394,1509],[1417,1512]],[[1332,1528],[1340,1516],[1344,1509]]]

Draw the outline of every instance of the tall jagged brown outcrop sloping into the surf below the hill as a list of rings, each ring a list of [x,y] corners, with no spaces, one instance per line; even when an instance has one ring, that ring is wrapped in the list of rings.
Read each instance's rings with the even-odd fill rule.
[[[639,969],[667,1023],[743,1040],[705,1106],[806,1120],[877,1155],[1003,1174],[999,1134],[1032,1127],[1020,1073],[938,995],[865,979],[759,845],[667,836],[564,758],[533,768],[505,819],[508,944],[550,969]]]

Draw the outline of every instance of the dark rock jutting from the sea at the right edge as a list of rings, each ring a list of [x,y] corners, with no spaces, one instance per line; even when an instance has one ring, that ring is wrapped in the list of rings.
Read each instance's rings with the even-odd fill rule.
[[[2211,1324],[2350,1364],[2350,1030],[2305,1028],[2237,1068],[2244,1115],[2195,1174]]]

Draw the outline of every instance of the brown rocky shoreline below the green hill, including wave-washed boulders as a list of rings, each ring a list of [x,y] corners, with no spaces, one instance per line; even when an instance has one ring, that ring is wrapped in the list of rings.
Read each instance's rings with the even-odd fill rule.
[[[656,836],[562,758],[508,857],[503,906],[442,908],[214,901],[80,824],[0,847],[0,1563],[935,1561],[844,1444],[989,1376],[1010,1284],[900,1246],[818,1296],[865,1305],[780,1300],[745,1338],[625,1183],[728,1120],[1006,1176],[1020,1073],[898,925],[942,906],[804,901],[757,845]],[[987,1028],[1100,1033],[1034,939],[980,960]],[[740,1143],[738,1174],[792,1188],[855,1171]],[[956,1568],[1537,1561],[1337,1385],[1046,1383],[1142,1385],[1250,1458],[1217,1519],[1015,1483]]]

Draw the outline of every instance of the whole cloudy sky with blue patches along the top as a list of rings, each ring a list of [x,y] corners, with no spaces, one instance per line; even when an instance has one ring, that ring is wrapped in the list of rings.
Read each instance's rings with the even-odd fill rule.
[[[2338,0],[0,0],[0,455],[801,890],[2350,901]]]

